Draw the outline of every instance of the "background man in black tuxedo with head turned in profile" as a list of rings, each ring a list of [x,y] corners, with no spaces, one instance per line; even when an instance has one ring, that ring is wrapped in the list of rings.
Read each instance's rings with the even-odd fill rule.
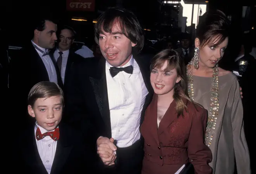
[[[62,86],[61,76],[48,54],[48,50],[54,48],[57,41],[57,25],[50,18],[40,18],[35,21],[33,30],[33,39],[10,61],[10,92],[12,100],[20,103],[15,109],[18,113],[12,112],[17,120],[24,123],[29,121],[29,117],[21,118],[20,115],[27,113],[26,100],[32,86],[40,81],[51,81]]]

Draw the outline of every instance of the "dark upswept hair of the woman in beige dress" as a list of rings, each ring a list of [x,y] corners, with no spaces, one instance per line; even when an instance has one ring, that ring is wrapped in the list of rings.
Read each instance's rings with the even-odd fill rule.
[[[202,47],[218,41],[214,45],[221,44],[230,33],[230,21],[220,10],[210,10],[202,15],[197,25],[195,37]]]

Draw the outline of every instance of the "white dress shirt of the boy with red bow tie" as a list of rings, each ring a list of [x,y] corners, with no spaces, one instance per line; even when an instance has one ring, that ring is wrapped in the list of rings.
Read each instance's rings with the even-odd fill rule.
[[[48,132],[41,126],[39,126],[37,123],[35,125],[35,139],[36,139],[36,129],[40,128],[41,133]],[[45,169],[47,170],[48,174],[50,174],[52,169],[52,163],[54,161],[54,156],[57,148],[57,141],[54,141],[50,136],[44,137],[42,140],[36,139],[36,145],[38,149],[38,153],[40,155],[40,158],[43,162],[43,165],[45,166]]]

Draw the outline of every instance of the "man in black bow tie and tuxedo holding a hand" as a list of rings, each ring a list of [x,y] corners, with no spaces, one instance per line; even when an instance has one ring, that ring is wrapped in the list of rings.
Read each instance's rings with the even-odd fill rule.
[[[139,127],[152,100],[150,57],[136,55],[144,45],[143,30],[133,13],[109,8],[97,20],[95,41],[104,57],[73,64],[64,111],[73,117],[66,121],[90,132],[86,138],[97,144],[102,173],[140,174]]]

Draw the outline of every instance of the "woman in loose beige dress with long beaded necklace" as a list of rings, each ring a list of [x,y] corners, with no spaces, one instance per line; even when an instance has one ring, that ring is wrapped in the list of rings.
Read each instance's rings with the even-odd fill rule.
[[[189,96],[208,110],[205,143],[213,174],[250,174],[243,107],[236,76],[218,67],[228,44],[229,20],[221,11],[206,12],[197,25],[195,56],[187,65]]]

